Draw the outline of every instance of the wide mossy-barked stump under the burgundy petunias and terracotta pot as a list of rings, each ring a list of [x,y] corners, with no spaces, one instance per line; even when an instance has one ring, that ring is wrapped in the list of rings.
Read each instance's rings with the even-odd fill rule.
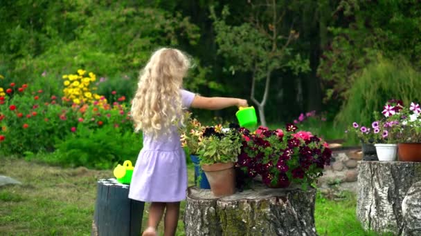
[[[317,235],[314,226],[316,190],[253,189],[229,197],[211,190],[188,188],[184,226],[193,235]]]

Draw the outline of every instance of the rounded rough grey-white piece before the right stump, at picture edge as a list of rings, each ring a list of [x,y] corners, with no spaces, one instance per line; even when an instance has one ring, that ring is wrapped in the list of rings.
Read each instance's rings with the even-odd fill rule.
[[[421,181],[409,188],[402,201],[404,230],[402,235],[421,235]]]

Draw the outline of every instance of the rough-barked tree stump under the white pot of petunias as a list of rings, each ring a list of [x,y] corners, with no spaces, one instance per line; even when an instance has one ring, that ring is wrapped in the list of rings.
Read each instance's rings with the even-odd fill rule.
[[[419,162],[360,161],[357,218],[364,229],[402,235],[402,201],[417,181],[421,181]]]

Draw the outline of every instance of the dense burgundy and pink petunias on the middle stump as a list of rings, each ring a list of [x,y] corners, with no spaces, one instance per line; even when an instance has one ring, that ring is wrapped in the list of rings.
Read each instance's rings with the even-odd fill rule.
[[[244,141],[237,166],[249,178],[260,175],[269,188],[287,188],[292,183],[307,188],[330,164],[328,144],[310,132],[297,132],[294,124],[287,124],[285,131],[265,127],[253,133],[240,131]]]

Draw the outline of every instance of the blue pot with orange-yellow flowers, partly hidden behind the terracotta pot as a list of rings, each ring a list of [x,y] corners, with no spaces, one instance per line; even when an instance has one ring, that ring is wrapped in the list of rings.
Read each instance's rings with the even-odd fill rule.
[[[190,112],[185,113],[184,120],[186,122],[185,126],[181,127],[180,130],[181,146],[188,150],[187,153],[190,154],[190,160],[195,166],[195,184],[199,186],[199,188],[210,189],[211,186],[209,185],[208,179],[200,168],[200,158],[197,154],[199,142],[201,142],[205,127],[202,126],[197,119],[192,118]]]

